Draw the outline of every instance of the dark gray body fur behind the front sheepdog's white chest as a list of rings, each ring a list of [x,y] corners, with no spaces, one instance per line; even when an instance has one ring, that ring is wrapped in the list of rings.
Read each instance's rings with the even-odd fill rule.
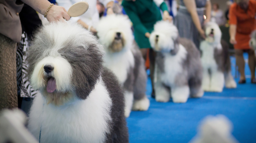
[[[102,80],[112,99],[111,127],[110,133],[106,135],[106,143],[128,143],[129,135],[124,117],[124,94],[121,86],[118,84],[117,77],[110,70],[103,68]]]

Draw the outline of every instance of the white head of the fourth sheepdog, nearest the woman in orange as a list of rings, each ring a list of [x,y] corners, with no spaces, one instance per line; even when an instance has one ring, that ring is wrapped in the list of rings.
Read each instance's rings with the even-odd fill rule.
[[[220,43],[221,42],[221,29],[218,24],[214,22],[208,22],[205,24],[205,35],[206,41],[210,43]]]

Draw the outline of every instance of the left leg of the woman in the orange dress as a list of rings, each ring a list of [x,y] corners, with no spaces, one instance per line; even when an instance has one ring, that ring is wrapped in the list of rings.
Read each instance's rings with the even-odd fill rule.
[[[245,83],[245,60],[243,54],[243,50],[235,49],[236,65],[238,66],[238,71],[240,72],[239,83]]]

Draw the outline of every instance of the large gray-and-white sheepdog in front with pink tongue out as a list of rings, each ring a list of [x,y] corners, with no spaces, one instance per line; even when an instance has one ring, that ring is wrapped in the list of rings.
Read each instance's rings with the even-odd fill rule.
[[[103,46],[78,24],[37,32],[27,53],[35,97],[28,128],[43,143],[128,142],[124,97]]]

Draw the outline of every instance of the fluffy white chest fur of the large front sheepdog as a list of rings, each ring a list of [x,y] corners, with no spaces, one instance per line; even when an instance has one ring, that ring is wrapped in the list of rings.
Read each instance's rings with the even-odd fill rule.
[[[75,96],[74,96],[75,97]],[[35,97],[28,128],[43,143],[102,143],[109,133],[112,101],[101,78],[86,100],[75,99],[62,106],[46,104]]]

